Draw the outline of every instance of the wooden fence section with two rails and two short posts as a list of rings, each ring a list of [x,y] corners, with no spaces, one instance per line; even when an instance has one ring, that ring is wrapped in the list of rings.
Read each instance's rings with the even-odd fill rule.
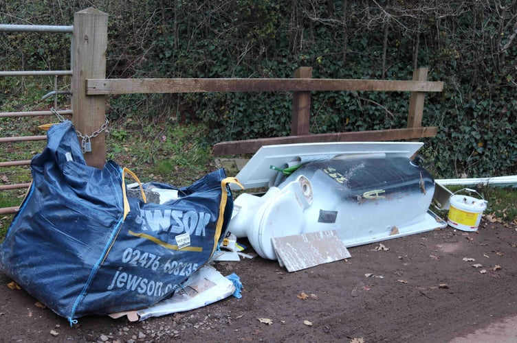
[[[427,68],[419,68],[413,80],[312,79],[311,67],[296,69],[293,79],[87,79],[86,96],[129,93],[206,93],[292,91],[291,136],[247,141],[228,141],[214,145],[216,156],[256,152],[262,145],[316,143],[331,141],[392,141],[433,137],[436,127],[421,126],[426,92],[440,92],[443,82],[429,82]],[[309,134],[312,91],[411,92],[408,127],[390,130]],[[103,162],[102,162],[103,163]]]

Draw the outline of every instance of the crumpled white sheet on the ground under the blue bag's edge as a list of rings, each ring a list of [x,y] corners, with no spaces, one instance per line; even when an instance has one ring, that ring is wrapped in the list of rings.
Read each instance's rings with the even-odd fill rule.
[[[170,298],[154,306],[137,311],[124,311],[110,314],[111,318],[127,316],[129,321],[146,320],[151,317],[165,316],[176,312],[190,311],[210,305],[235,292],[235,285],[215,268],[205,265],[197,270]]]

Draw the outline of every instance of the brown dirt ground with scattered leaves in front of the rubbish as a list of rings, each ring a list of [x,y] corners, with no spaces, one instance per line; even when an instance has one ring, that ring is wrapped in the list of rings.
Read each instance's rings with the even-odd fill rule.
[[[241,278],[241,299],[144,322],[89,316],[69,327],[0,274],[0,341],[448,342],[517,314],[515,223],[483,220],[478,233],[447,227],[382,244],[293,273],[260,257],[218,262]]]

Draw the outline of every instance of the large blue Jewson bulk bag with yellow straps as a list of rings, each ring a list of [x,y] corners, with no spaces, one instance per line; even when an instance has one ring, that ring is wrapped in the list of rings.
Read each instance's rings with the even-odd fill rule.
[[[86,165],[70,121],[32,158],[32,185],[0,246],[0,270],[56,314],[76,318],[153,305],[208,262],[233,201],[223,169],[165,204],[126,196],[113,161]]]

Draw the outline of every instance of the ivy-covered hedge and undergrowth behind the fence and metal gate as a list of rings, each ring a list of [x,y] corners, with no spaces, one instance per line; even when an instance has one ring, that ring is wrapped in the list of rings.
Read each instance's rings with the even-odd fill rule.
[[[110,78],[292,78],[306,66],[313,78],[410,80],[416,67],[428,67],[428,79],[445,84],[442,93],[426,95],[423,113],[424,126],[439,128],[422,150],[432,173],[517,172],[515,1],[12,0],[0,21],[70,25],[74,12],[90,5],[109,14]],[[0,33],[0,64],[69,69],[68,46],[67,35]],[[17,100],[23,96],[39,107],[53,82],[0,78],[0,101],[17,110],[26,106]],[[60,88],[67,82],[60,78]],[[310,130],[404,128],[408,99],[407,93],[314,93]],[[290,93],[119,95],[109,99],[108,116],[151,126],[202,123],[204,146],[287,135],[291,106]],[[126,132],[112,132],[114,150],[124,149],[132,134]],[[142,143],[137,148],[150,153],[139,161],[161,161],[163,145],[173,149],[167,141]]]

